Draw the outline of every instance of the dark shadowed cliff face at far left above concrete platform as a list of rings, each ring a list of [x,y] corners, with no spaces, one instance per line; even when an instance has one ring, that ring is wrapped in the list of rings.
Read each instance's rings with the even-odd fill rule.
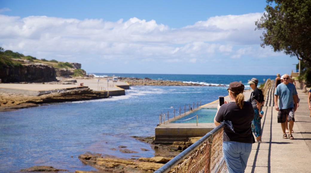
[[[41,63],[25,63],[23,66],[1,69],[2,82],[52,82],[56,81],[55,69]]]

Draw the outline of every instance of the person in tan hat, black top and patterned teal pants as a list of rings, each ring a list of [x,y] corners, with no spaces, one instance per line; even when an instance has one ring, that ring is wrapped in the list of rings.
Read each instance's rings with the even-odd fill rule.
[[[263,114],[260,113],[262,105],[265,103],[262,90],[257,88],[258,85],[258,79],[252,78],[248,82],[249,86],[253,89],[253,92],[251,93],[251,96],[249,98],[249,102],[252,103],[253,109],[255,112],[255,118],[252,121],[252,131],[254,135],[256,136],[256,140],[258,143],[261,142],[261,118]]]

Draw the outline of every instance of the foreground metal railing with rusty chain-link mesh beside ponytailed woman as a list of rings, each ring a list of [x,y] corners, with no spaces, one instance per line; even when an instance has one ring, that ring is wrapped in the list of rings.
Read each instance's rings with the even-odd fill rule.
[[[224,126],[225,124],[221,123],[155,173],[227,172],[222,151]]]

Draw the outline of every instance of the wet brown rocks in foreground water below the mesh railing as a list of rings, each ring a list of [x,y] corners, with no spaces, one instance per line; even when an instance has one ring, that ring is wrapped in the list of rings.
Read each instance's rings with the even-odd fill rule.
[[[190,145],[195,143],[201,137],[189,138],[188,142],[174,142],[171,145],[168,144],[155,144],[154,136],[152,137],[138,137],[132,136],[133,138],[146,142],[151,145],[155,150],[154,157],[140,157],[140,158],[118,158],[110,156],[104,153],[84,153],[78,156],[79,160],[86,164],[94,167],[97,171],[83,171],[77,170],[75,173],[143,173],[143,172],[154,172],[165,163],[169,162],[180,152],[187,149]],[[118,146],[118,149],[123,153],[137,153],[126,149],[127,146]],[[146,151],[147,149],[141,149]],[[67,171],[54,168],[52,166],[32,166],[30,168],[20,170],[22,172],[58,172]]]

